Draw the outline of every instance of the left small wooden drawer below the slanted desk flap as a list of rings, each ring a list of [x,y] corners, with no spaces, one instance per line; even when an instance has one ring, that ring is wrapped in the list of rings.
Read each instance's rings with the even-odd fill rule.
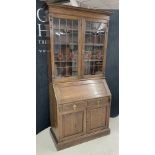
[[[60,112],[79,111],[85,109],[87,102],[80,101],[74,103],[67,103],[59,106]]]

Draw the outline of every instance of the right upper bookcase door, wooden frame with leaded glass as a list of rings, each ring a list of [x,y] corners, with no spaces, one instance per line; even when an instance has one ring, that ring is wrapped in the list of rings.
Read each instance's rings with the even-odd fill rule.
[[[103,76],[107,46],[107,21],[83,21],[83,76]]]

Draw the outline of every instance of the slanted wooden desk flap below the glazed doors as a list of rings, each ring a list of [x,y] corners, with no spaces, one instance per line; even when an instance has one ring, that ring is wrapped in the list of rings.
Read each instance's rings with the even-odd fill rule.
[[[111,96],[105,79],[54,84],[58,104]]]

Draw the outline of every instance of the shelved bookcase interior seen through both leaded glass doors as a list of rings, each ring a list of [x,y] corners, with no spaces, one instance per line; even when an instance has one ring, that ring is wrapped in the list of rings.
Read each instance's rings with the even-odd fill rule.
[[[78,76],[78,27],[78,19],[53,18],[56,78]],[[82,54],[84,75],[97,75],[103,72],[105,29],[106,25],[102,22],[85,23]]]

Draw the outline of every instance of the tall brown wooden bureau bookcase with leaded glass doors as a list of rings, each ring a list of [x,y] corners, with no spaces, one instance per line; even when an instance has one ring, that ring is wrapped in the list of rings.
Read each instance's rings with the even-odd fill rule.
[[[60,150],[110,133],[105,64],[111,12],[47,5],[51,136]]]

